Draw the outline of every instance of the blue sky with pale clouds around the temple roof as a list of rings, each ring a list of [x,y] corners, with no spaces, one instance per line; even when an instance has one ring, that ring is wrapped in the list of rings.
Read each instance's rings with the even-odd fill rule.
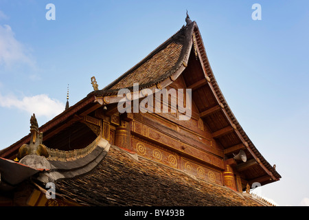
[[[54,3],[55,20],[47,20]],[[262,20],[253,20],[254,3]],[[309,206],[309,1],[0,0],[0,149],[102,89],[196,21],[220,89],[282,179],[260,188]]]

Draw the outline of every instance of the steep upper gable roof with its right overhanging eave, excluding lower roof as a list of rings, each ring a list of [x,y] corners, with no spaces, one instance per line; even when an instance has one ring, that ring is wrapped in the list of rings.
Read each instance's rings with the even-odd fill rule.
[[[194,53],[196,58],[192,58]],[[191,72],[189,70],[185,72],[187,65],[196,62],[195,60],[201,63],[202,67],[200,68],[203,69],[205,76],[193,76],[192,69],[190,69]],[[196,63],[194,63],[194,65],[196,65]],[[217,131],[224,131],[224,129],[234,130],[233,134],[224,133],[224,135],[220,135],[220,137],[217,138],[224,148],[230,148],[240,143],[244,144],[249,153],[249,159],[253,158],[255,161],[258,161],[258,166],[261,166],[262,169],[266,171],[266,175],[271,177],[271,179],[268,180],[258,180],[262,182],[262,184],[279,180],[281,175],[277,173],[275,168],[267,162],[253,142],[251,142],[227,104],[227,100],[225,100],[210,67],[201,33],[195,21],[183,26],[179,32],[176,32],[176,34],[171,36],[167,41],[159,45],[159,47],[148,54],[148,56],[137,63],[137,65],[114,80],[113,83],[107,85],[104,89],[92,91],[88,96],[104,96],[105,98],[110,98],[110,100],[106,102],[110,104],[119,101],[116,98],[113,99],[119,89],[127,88],[133,91],[133,83],[139,83],[140,90],[145,88],[157,88],[157,85],[163,88],[173,83],[181,74],[186,75],[185,80],[190,83],[187,88],[198,87],[204,90],[194,91],[195,95],[192,94],[192,99],[196,101],[196,103],[199,103],[196,105],[198,105],[198,110],[201,113],[200,116],[201,118],[203,117],[203,120],[209,125],[211,131],[216,133]],[[207,84],[209,84],[209,87],[207,87]],[[202,87],[200,85],[202,85]],[[205,101],[200,102],[203,96],[214,96],[214,101],[211,100],[210,102],[208,98],[207,101],[209,103]],[[222,111],[217,111],[218,103],[222,107]],[[207,116],[203,116],[206,115],[206,113]],[[232,154],[229,153],[229,155]],[[247,172],[247,175],[250,176],[250,172],[251,170]],[[260,172],[259,175],[262,176],[262,173]]]

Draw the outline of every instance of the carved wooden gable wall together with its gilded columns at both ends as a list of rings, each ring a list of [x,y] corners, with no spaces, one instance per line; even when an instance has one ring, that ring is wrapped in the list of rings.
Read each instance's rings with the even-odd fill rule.
[[[183,78],[179,77],[168,89],[184,87]],[[152,108],[155,110],[155,96]],[[168,113],[124,114],[119,114],[117,107],[108,111],[100,108],[95,116],[102,119],[102,137],[111,144],[195,177],[235,190],[240,188],[240,177],[228,172],[224,148],[212,137],[194,102],[190,120],[179,120],[179,111],[171,112],[170,104],[168,108]]]

